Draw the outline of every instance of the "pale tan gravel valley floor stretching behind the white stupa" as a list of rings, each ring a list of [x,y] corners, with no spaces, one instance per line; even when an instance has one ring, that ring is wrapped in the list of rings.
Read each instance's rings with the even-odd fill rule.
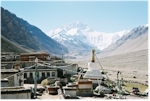
[[[87,63],[90,61],[90,57],[88,58],[89,60],[72,59],[67,62],[77,63],[79,67],[88,69]],[[119,78],[140,84],[148,84],[148,50],[104,58],[97,55],[97,58],[104,71],[108,72],[109,79],[115,80],[117,78],[117,72],[120,71],[122,75]],[[99,68],[102,69],[101,67]]]

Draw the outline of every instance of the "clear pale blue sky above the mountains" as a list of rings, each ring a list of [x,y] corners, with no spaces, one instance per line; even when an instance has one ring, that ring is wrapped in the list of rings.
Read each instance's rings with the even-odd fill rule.
[[[148,24],[148,1],[2,1],[1,6],[45,33],[77,20],[101,32]]]

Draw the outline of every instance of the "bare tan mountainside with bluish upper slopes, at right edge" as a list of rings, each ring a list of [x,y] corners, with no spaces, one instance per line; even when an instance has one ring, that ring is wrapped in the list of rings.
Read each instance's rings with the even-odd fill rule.
[[[102,53],[116,55],[148,49],[148,25],[140,25],[121,37]]]

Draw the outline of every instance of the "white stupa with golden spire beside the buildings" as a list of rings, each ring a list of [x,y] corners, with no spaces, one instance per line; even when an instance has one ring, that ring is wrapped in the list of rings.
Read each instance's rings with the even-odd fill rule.
[[[94,57],[95,50],[92,50],[92,60],[88,63],[88,70],[83,76],[84,79],[91,79],[91,80],[100,80],[103,79],[102,73],[99,70],[98,63],[95,62]]]

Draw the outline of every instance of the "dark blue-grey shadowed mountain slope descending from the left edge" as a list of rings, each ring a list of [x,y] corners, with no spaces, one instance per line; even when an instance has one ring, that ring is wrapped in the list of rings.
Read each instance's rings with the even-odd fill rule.
[[[57,55],[68,52],[65,46],[48,37],[39,28],[30,25],[2,7],[1,35],[29,50],[45,51]]]

